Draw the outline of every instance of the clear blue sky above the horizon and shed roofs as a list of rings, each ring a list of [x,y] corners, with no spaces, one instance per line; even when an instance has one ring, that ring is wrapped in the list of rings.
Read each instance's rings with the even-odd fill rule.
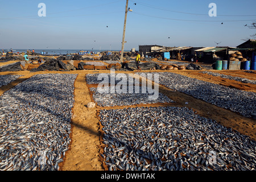
[[[38,16],[39,3],[46,4],[46,17]],[[217,5],[216,17],[208,15],[210,3]],[[126,0],[1,1],[0,49],[120,50],[125,5]],[[214,42],[236,47],[255,34],[244,26],[256,22],[255,6],[255,0],[130,0],[125,49],[217,46]]]

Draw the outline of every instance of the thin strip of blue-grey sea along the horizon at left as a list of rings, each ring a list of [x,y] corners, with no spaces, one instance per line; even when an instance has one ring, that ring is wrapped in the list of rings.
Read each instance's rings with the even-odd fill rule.
[[[27,50],[30,50],[32,52],[32,49],[13,49],[13,53],[22,53],[27,52]],[[119,52],[120,50],[97,50],[97,49],[34,49],[36,53],[42,53],[44,52],[44,55],[67,55],[69,53],[79,53],[80,51],[88,51],[93,53],[98,52]],[[2,49],[0,50],[2,52]],[[5,52],[11,51],[11,49],[4,49]],[[129,52],[126,51],[125,52]]]

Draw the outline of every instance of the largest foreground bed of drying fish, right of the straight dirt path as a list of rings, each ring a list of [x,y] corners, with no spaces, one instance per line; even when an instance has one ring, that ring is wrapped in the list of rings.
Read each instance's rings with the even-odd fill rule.
[[[255,170],[256,142],[187,107],[100,110],[110,171]]]

